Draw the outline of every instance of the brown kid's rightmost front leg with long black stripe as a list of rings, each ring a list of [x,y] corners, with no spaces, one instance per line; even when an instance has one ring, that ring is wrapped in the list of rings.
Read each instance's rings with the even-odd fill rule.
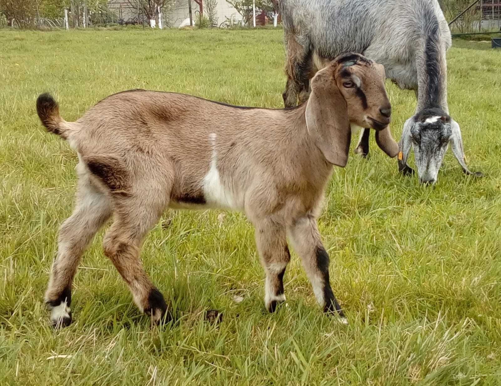
[[[347,324],[341,306],[332,292],[329,280],[329,255],[322,245],[317,219],[305,216],[297,219],[288,229],[294,250],[300,255],[313,292],[324,312],[337,312],[342,322]]]

